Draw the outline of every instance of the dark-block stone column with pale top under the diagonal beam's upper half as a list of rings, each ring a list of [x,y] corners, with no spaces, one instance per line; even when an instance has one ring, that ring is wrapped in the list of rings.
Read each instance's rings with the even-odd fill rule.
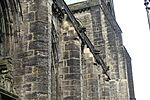
[[[74,28],[67,21],[64,22],[62,34],[62,100],[81,100],[80,41]]]

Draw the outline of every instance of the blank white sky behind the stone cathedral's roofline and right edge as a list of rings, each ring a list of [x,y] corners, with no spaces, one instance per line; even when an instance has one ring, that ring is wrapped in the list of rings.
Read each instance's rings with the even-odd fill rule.
[[[144,0],[114,0],[114,7],[124,45],[132,58],[136,99],[150,100],[150,31]]]

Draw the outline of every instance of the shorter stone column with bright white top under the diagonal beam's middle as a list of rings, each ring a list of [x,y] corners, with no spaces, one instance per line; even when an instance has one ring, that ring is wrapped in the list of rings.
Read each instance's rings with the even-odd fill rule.
[[[83,100],[99,100],[99,70],[93,55],[88,48],[84,50],[83,70]]]

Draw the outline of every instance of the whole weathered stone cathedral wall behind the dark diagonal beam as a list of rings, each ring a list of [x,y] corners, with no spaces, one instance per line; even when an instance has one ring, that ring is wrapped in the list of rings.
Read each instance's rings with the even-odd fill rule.
[[[13,86],[21,100],[135,100],[121,30],[100,5],[88,0],[69,7],[109,66],[110,81],[52,0],[20,0],[3,30],[0,57],[12,59]]]

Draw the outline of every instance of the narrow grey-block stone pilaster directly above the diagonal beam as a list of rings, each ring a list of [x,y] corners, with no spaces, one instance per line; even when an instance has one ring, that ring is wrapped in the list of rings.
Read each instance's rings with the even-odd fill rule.
[[[102,59],[105,59],[105,41],[102,34],[101,28],[101,10],[99,6],[92,7],[91,9],[92,16],[92,25],[93,25],[93,38],[94,38],[94,46],[96,50],[99,52]]]

